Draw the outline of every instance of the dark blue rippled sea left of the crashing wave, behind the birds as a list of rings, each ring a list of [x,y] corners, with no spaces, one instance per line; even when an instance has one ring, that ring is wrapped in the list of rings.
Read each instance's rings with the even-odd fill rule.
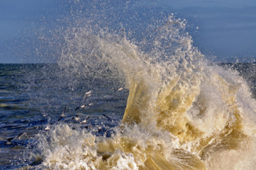
[[[79,84],[70,85],[70,78],[57,75],[57,64],[1,64],[0,67],[0,169],[40,164],[35,143],[39,134],[49,133],[48,128],[65,124],[73,129],[94,129],[92,134],[97,136],[109,136],[110,128],[122,120],[128,91],[115,91],[120,87],[104,83],[104,79],[91,83],[92,80],[84,78]],[[83,100],[89,90],[91,97]],[[76,109],[81,105],[87,106]],[[85,123],[87,116],[90,117]]]

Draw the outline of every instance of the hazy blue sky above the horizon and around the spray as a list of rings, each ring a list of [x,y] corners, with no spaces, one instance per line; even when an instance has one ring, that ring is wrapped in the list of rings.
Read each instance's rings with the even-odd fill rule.
[[[61,48],[56,44],[51,51],[46,46],[38,51],[43,45],[35,39],[42,35],[40,29],[56,28],[59,20],[63,24],[63,18],[71,15],[74,4],[81,4],[79,0],[70,1],[0,0],[0,63],[44,63],[45,58]],[[120,4],[112,2],[107,3]],[[129,3],[136,10],[154,6],[159,13],[174,13],[178,18],[185,18],[194,46],[208,57],[215,56],[217,61],[256,58],[255,0],[138,0]],[[86,13],[86,6],[90,5],[90,0],[83,1],[80,12]],[[120,14],[122,17],[126,16]]]

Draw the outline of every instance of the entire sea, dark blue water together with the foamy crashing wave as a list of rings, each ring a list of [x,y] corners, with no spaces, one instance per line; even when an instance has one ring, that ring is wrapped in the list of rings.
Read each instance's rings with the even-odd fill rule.
[[[96,13],[56,63],[0,65],[1,169],[256,168],[255,63],[208,61],[173,14],[136,39]]]

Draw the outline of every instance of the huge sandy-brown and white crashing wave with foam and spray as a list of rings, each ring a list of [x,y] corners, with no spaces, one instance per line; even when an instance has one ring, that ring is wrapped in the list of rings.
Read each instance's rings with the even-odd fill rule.
[[[110,137],[56,124],[38,135],[46,169],[255,169],[255,100],[238,73],[210,65],[169,17],[141,41],[75,27],[58,65],[129,90]],[[77,80],[76,80],[77,81]]]

